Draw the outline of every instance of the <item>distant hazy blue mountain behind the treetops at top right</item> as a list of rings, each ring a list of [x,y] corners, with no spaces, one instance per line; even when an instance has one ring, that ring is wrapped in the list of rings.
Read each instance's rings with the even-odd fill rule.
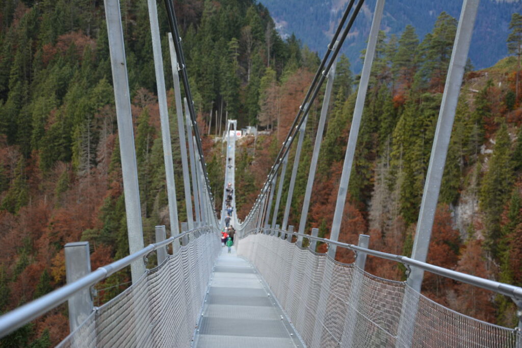
[[[283,34],[295,33],[303,44],[313,51],[323,54],[325,42],[345,10],[348,0],[260,0],[278,23]],[[458,18],[462,1],[458,0],[392,0],[384,8],[382,26],[388,35],[400,34],[407,25],[412,25],[423,38],[429,33],[437,16],[446,11]],[[360,71],[360,51],[364,48],[364,38],[370,32],[375,0],[366,1],[362,11],[364,18],[355,21],[355,34],[350,35],[345,53],[350,58],[355,71]],[[296,10],[299,9],[299,10]],[[480,2],[477,21],[471,42],[470,58],[477,68],[495,64],[507,55],[504,45],[509,20],[513,13],[522,12],[522,3],[509,0],[483,0]]]

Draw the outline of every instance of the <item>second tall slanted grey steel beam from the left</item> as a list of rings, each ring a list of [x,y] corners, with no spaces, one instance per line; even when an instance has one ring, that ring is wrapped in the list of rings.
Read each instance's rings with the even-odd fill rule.
[[[169,201],[170,233],[175,236],[180,233],[177,221],[176,184],[174,181],[174,165],[172,162],[172,144],[170,140],[169,108],[163,74],[163,57],[161,54],[160,29],[158,25],[158,8],[156,0],[147,0],[149,7],[150,33],[152,35],[152,53],[156,86],[158,89],[158,106],[160,110],[161,140],[163,144],[163,160],[165,163],[165,181],[167,182],[167,199]]]

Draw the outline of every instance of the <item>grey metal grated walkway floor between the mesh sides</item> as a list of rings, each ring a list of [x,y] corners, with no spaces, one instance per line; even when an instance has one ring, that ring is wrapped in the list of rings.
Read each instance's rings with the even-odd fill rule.
[[[250,262],[223,247],[196,333],[198,348],[302,347],[268,286]]]

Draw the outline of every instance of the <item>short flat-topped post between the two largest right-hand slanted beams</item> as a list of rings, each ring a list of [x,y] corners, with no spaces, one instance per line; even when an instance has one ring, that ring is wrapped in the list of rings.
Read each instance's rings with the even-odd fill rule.
[[[359,235],[358,246],[368,248],[370,244],[370,236],[366,234]],[[350,295],[348,295],[348,307],[345,317],[345,331],[342,333],[341,342],[345,343],[347,347],[357,346],[354,342],[355,326],[357,325],[358,308],[361,297],[361,290],[364,280],[364,266],[366,265],[366,254],[357,251],[355,258],[355,269],[353,270],[352,282],[350,286]],[[344,344],[343,344],[344,345]]]

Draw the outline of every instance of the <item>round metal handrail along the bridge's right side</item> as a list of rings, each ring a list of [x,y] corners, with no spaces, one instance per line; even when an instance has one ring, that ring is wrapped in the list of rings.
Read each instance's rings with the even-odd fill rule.
[[[255,229],[255,230],[248,231],[247,233],[245,233],[243,238],[249,234],[256,234],[259,232],[263,232],[265,230],[266,229],[261,228],[261,229]],[[332,245],[336,245],[336,246],[339,246],[342,248],[350,249],[352,251],[355,251],[355,253],[360,252],[360,253],[372,255],[372,256],[375,256],[378,258],[400,262],[407,267],[409,267],[409,266],[418,267],[420,269],[423,269],[424,271],[442,275],[443,277],[446,277],[446,278],[450,278],[450,279],[457,280],[462,283],[471,284],[474,286],[481,287],[482,289],[490,290],[490,291],[493,291],[493,292],[496,292],[496,293],[499,293],[502,295],[509,296],[515,302],[522,301],[522,287],[518,287],[518,286],[506,284],[506,283],[501,283],[501,282],[496,282],[494,280],[477,277],[476,275],[457,272],[457,271],[450,270],[450,269],[447,269],[444,267],[432,265],[431,263],[428,263],[428,262],[421,262],[418,260],[414,260],[407,256],[384,253],[383,251],[377,251],[377,250],[373,250],[373,249],[363,248],[363,247],[353,245],[353,244],[332,241],[331,239],[327,239],[327,238],[314,237],[309,234],[298,233],[298,232],[288,232],[288,231],[275,230],[275,229],[268,229],[268,231],[276,231],[276,232],[281,232],[281,233],[286,233],[286,234],[290,234],[290,235],[308,238],[311,240],[313,239],[314,241],[323,242],[326,244],[332,244]]]

